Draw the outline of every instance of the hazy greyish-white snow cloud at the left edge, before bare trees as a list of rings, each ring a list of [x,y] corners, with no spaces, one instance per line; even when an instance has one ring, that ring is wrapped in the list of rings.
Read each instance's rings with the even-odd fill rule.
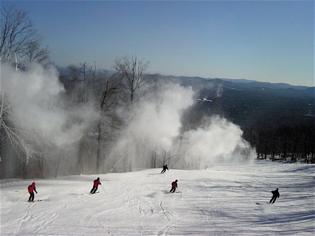
[[[54,67],[34,64],[28,71],[15,71],[2,64],[1,90],[8,96],[21,128],[58,146],[78,141],[89,122],[97,118],[91,104],[71,110],[61,105],[64,88]]]

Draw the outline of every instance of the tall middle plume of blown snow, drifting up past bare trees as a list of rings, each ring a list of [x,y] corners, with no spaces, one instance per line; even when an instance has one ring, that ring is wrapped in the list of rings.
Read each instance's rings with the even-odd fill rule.
[[[181,115],[193,104],[191,87],[165,84],[158,88],[156,97],[144,97],[126,118],[126,128],[121,133],[113,152],[127,150],[141,143],[169,149],[180,133]],[[131,149],[132,149],[131,147]],[[134,154],[132,159],[139,159]]]

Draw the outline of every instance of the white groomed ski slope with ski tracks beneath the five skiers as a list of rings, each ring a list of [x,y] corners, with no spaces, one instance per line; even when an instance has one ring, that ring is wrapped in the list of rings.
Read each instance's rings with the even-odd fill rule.
[[[1,180],[1,236],[313,236],[315,165],[256,161],[208,170]],[[89,194],[100,177],[104,190]],[[178,179],[179,193],[169,193]],[[28,203],[27,187],[38,194]],[[280,199],[268,204],[271,190]]]

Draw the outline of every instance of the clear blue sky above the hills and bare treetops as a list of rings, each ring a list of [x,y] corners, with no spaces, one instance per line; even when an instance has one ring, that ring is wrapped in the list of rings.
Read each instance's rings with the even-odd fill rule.
[[[314,1],[4,1],[56,65],[137,55],[149,73],[314,86]]]

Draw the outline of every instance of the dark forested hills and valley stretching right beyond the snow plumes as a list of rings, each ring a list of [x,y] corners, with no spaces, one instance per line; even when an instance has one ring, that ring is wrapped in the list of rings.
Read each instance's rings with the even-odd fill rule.
[[[179,77],[199,90],[188,114],[198,124],[203,116],[220,114],[238,124],[258,156],[314,163],[315,88],[223,79]]]

